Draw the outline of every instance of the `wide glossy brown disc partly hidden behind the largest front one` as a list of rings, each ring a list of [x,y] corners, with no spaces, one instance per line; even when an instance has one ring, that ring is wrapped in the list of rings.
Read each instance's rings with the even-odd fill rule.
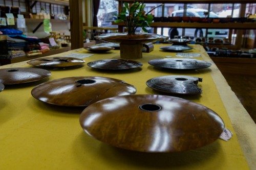
[[[124,81],[106,77],[69,77],[42,83],[32,96],[42,102],[70,107],[86,107],[117,95],[134,94],[136,88]]]

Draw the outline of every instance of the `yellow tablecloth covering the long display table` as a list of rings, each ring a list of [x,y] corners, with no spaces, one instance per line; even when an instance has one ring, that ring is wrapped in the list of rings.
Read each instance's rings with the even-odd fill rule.
[[[190,71],[164,71],[147,64],[148,60],[175,56],[155,45],[143,53],[141,69],[104,72],[86,64],[80,68],[53,69],[49,80],[73,76],[103,76],[124,80],[137,88],[137,94],[154,94],[145,82],[165,75],[188,75],[203,78],[200,98],[185,99],[200,103],[217,112],[226,128],[233,132],[229,141],[216,140],[203,148],[182,153],[149,154],[117,149],[83,132],[79,125],[82,109],[51,106],[35,100],[30,94],[38,83],[6,87],[0,93],[0,169],[248,169],[237,135],[230,123],[219,92],[212,80],[217,67]],[[195,53],[212,62],[201,46]],[[73,51],[72,53],[74,53]],[[71,53],[71,52],[68,52]],[[68,54],[65,53],[65,54]],[[80,50],[79,53],[90,53]],[[55,56],[61,56],[55,55]],[[99,59],[117,59],[119,51],[94,54],[86,63]],[[26,62],[1,66],[30,67]]]

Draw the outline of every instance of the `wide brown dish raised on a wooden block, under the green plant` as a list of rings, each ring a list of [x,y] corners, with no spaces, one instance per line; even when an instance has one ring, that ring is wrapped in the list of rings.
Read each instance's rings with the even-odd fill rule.
[[[165,36],[158,34],[136,33],[128,36],[127,33],[110,33],[95,36],[95,38],[109,42],[147,43],[165,39]]]

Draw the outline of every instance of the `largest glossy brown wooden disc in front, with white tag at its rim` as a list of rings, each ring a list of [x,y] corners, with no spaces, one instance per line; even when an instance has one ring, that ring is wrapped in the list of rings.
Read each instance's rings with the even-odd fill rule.
[[[140,152],[181,152],[214,142],[224,129],[209,108],[166,95],[124,95],[83,110],[80,125],[90,136]]]

